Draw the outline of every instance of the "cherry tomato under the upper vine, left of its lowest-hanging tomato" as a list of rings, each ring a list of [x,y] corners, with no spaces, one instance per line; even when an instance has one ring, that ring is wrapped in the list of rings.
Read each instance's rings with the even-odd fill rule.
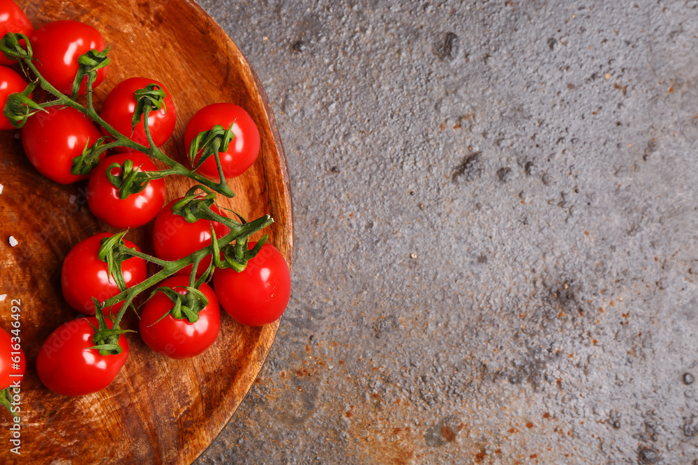
[[[57,183],[70,184],[89,178],[89,174],[75,176],[70,168],[85,144],[94,144],[101,133],[87,116],[74,108],[46,110],[30,116],[22,127],[22,146],[27,158],[41,174]]]

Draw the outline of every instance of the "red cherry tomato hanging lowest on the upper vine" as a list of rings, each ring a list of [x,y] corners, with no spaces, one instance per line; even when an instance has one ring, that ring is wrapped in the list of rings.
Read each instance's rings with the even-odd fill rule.
[[[126,152],[112,155],[100,162],[87,184],[87,204],[94,215],[113,227],[125,229],[139,227],[152,220],[165,203],[165,180],[153,179],[144,190],[119,199],[119,190],[107,179],[107,167],[112,163],[123,164],[131,160],[134,167],[142,171],[158,169],[147,155],[140,152]],[[121,169],[112,168],[112,174],[120,174]]]

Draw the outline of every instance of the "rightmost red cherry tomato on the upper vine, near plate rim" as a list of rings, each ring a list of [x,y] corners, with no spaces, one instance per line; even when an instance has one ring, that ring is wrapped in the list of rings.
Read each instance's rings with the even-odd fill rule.
[[[235,178],[243,174],[252,166],[260,152],[260,132],[250,115],[242,107],[232,103],[214,103],[196,112],[184,131],[184,150],[189,153],[191,141],[199,132],[210,130],[216,124],[228,129],[233,121],[235,124],[232,126],[232,133],[235,137],[228,145],[228,150],[218,155],[225,178]],[[197,171],[204,176],[218,178],[214,155],[207,158]]]

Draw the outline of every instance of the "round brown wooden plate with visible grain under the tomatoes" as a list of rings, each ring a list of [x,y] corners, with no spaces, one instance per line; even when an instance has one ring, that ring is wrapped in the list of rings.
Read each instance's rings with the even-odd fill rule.
[[[283,148],[258,77],[232,40],[191,0],[18,1],[38,27],[50,20],[91,24],[112,45],[112,65],[96,89],[98,107],[122,79],[163,82],[177,106],[177,128],[165,153],[184,162],[184,128],[214,102],[244,107],[260,128],[262,149],[251,169],[230,181],[237,197],[219,203],[248,219],[269,213],[267,232],[292,254],[291,199]],[[0,134],[0,325],[10,329],[10,305],[21,301],[22,349],[27,374],[21,392],[21,455],[6,439],[0,463],[188,464],[207,448],[242,401],[274,340],[279,322],[247,328],[222,315],[221,335],[191,360],[169,360],[128,335],[131,356],[107,389],[84,397],[47,390],[36,375],[40,344],[61,323],[79,315],[61,295],[61,263],[78,241],[115,231],[87,209],[84,183],[58,185],[43,178],[22,151],[19,132]],[[193,183],[168,179],[168,200]],[[151,224],[127,238],[151,251]],[[9,236],[19,241],[8,245]],[[126,321],[137,325],[135,317]],[[10,436],[10,415],[0,413],[0,437]]]

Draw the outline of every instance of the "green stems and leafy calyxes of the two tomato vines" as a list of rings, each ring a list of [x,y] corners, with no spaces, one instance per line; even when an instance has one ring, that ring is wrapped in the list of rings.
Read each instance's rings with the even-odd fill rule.
[[[239,220],[237,221],[225,215],[220,215],[211,208],[215,203],[217,194],[225,197],[233,197],[235,195],[225,182],[221,160],[218,156],[219,152],[228,149],[228,145],[231,143],[232,138],[235,137],[232,132],[232,126],[235,122],[230,124],[228,128],[219,125],[211,130],[200,132],[198,136],[193,139],[191,146],[188,148],[194,169],[200,167],[202,162],[207,158],[216,160],[219,179],[218,182],[212,181],[195,171],[187,169],[179,162],[172,160],[172,158],[165,155],[154,142],[148,123],[149,114],[151,112],[160,112],[161,109],[167,111],[167,105],[165,105],[166,93],[163,86],[160,84],[148,84],[142,89],[136,90],[134,93],[137,105],[131,121],[131,130],[133,132],[142,121],[144,134],[149,144],[148,146],[134,142],[127,135],[117,131],[96,112],[93,102],[93,86],[96,82],[98,70],[105,68],[110,63],[108,57],[109,45],[103,50],[89,50],[89,52],[79,57],[78,71],[77,75],[75,75],[72,95],[70,96],[56,89],[56,87],[41,75],[34,63],[35,59],[29,38],[24,34],[7,33],[0,39],[0,52],[8,59],[19,61],[20,68],[22,68],[24,74],[27,75],[31,81],[24,91],[10,94],[3,109],[4,116],[6,116],[15,128],[22,128],[27,122],[27,119],[39,112],[47,112],[47,108],[49,107],[60,106],[77,110],[96,122],[108,133],[109,136],[105,135],[104,137],[98,137],[94,141],[87,142],[82,154],[73,159],[73,165],[70,170],[73,175],[87,176],[91,170],[98,166],[102,166],[99,165],[101,155],[110,148],[119,147],[126,149],[126,151],[144,153],[151,158],[163,162],[165,165],[168,165],[169,168],[141,171],[133,160],[130,159],[126,159],[121,163],[112,163],[108,165],[105,174],[114,188],[119,190],[119,199],[126,199],[130,195],[138,194],[148,183],[156,179],[172,175],[186,176],[193,179],[198,184],[191,188],[184,198],[174,202],[172,205],[172,213],[180,215],[189,223],[198,220],[207,220],[224,224],[225,227],[230,229],[228,234],[216,237],[216,232],[211,224],[211,245],[193,252],[187,257],[172,261],[145,254],[144,252],[140,252],[140,250],[136,250],[135,247],[128,247],[124,242],[124,234],[126,234],[127,231],[103,238],[101,240],[98,257],[107,264],[108,275],[117,282],[121,292],[103,302],[93,297],[97,324],[93,326],[91,322],[89,323],[94,329],[94,335],[91,338],[91,343],[94,345],[91,346],[90,349],[97,349],[102,356],[119,356],[119,354],[124,351],[124,348],[119,344],[121,335],[130,331],[119,328],[119,323],[121,323],[128,308],[134,308],[135,310],[133,305],[135,297],[188,266],[191,266],[191,273],[188,280],[188,287],[186,287],[187,291],[184,295],[163,288],[156,289],[154,293],[162,291],[172,299],[174,308],[168,313],[173,314],[174,317],[179,319],[186,318],[190,322],[196,321],[197,315],[195,313],[205,308],[208,303],[205,294],[198,291],[198,289],[204,282],[211,279],[211,275],[216,268],[232,268],[237,271],[244,270],[247,261],[255,257],[267,240],[267,236],[262,237],[253,249],[248,250],[248,238],[273,222],[269,215],[263,215],[256,220],[246,222],[241,215],[233,212]],[[80,102],[77,102],[77,96],[83,90],[81,89],[83,82],[85,82],[84,91],[87,94],[87,105],[81,105]],[[31,93],[37,87],[46,91],[53,99],[47,102],[36,102],[32,100]],[[91,145],[89,145],[90,143]],[[198,154],[200,158],[194,163],[195,157],[199,156]],[[112,169],[119,169],[119,174],[114,174]],[[197,277],[197,268],[199,268],[202,260],[209,255],[212,255],[211,263],[207,265],[205,272],[199,273],[200,277]],[[127,288],[121,277],[121,263],[131,257],[140,257],[141,259],[160,266],[161,269],[142,282]],[[119,303],[121,303],[120,306],[117,305]],[[115,315],[112,314],[111,310],[116,310],[117,307],[117,313]],[[108,324],[105,313],[103,312],[103,310],[106,309],[110,310],[107,312],[107,316],[110,318]],[[167,313],[163,315],[163,318],[166,315]],[[127,350],[128,348],[126,347],[126,351]]]

